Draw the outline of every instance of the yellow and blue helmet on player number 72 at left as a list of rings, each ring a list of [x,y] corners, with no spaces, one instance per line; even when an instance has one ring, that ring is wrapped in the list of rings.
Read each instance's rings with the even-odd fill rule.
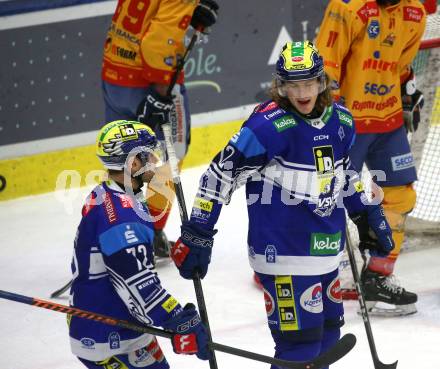
[[[104,167],[113,170],[124,169],[129,155],[136,155],[145,166],[156,165],[163,155],[153,130],[145,124],[116,120],[107,123],[96,138],[96,155]]]

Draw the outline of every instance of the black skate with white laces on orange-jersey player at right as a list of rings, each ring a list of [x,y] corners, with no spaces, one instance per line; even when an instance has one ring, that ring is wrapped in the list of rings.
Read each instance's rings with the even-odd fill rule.
[[[400,287],[393,275],[364,269],[361,275],[366,307],[371,316],[403,316],[417,312],[417,295]]]

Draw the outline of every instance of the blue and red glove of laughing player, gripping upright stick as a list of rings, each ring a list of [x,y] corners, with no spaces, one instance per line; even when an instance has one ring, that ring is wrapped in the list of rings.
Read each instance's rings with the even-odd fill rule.
[[[183,222],[181,236],[171,248],[171,258],[185,279],[192,279],[196,273],[203,278],[211,261],[212,245],[217,230],[207,230],[192,223]]]

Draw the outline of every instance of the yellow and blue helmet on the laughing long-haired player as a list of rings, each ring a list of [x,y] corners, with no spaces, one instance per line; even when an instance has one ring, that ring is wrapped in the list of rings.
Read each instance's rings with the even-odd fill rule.
[[[275,77],[281,82],[303,81],[324,75],[324,61],[310,41],[288,42],[281,50]]]

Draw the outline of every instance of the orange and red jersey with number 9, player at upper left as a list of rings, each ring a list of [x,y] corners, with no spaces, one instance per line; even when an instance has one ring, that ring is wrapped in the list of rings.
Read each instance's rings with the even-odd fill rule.
[[[102,79],[129,87],[170,83],[197,4],[198,0],[119,0],[105,41]]]

